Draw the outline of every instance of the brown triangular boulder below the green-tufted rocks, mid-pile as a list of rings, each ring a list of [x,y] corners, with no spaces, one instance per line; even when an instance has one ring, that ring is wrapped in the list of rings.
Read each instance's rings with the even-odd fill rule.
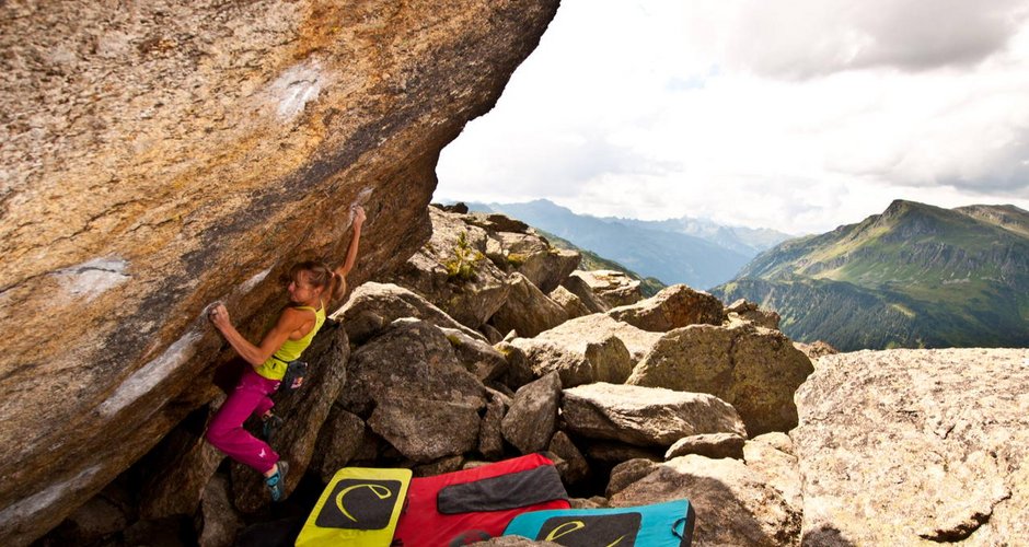
[[[514,272],[509,279],[510,293],[504,305],[489,319],[501,333],[514,330],[519,336],[533,337],[568,321],[568,314],[525,276]]]

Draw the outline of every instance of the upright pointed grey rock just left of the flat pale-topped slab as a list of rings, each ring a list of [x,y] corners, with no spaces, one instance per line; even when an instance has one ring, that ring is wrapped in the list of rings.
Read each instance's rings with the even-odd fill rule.
[[[504,438],[522,454],[542,451],[554,434],[559,400],[560,379],[557,373],[522,386],[504,417]]]

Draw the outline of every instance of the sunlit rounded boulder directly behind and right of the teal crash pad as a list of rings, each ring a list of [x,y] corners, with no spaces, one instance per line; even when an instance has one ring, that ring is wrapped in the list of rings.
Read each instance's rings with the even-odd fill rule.
[[[677,457],[611,496],[610,503],[625,508],[682,498],[697,514],[693,545],[800,544],[800,513],[739,459]]]

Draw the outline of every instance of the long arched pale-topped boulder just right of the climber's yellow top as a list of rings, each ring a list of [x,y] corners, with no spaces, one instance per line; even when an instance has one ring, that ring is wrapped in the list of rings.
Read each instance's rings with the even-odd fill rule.
[[[369,281],[350,294],[346,305],[334,314],[342,317],[351,344],[361,345],[395,319],[418,317],[438,327],[456,329],[465,336],[485,339],[479,333],[458,323],[442,310],[414,292],[393,284]]]

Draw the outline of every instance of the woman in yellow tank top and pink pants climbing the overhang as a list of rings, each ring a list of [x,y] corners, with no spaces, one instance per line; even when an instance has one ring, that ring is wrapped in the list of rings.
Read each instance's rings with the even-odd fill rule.
[[[354,237],[343,266],[333,270],[321,261],[304,261],[292,267],[287,288],[290,305],[282,310],[261,344],[251,344],[232,326],[224,305],[217,304],[210,311],[211,323],[251,366],[211,418],[206,438],[229,457],[264,474],[273,501],[284,498],[289,465],[266,442],[243,429],[243,422],[251,415],[259,416],[266,439],[281,422],[271,414],[270,395],[278,389],[288,363],[300,358],[322,327],[325,304],[346,292],[346,276],[357,259],[365,218],[362,208],[354,209]]]

